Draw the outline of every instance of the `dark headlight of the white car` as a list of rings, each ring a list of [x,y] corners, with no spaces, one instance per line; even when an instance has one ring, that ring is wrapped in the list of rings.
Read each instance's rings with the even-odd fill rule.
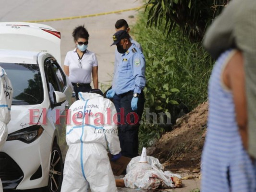
[[[8,134],[6,141],[20,140],[26,144],[30,144],[33,141],[37,140],[37,138],[40,137],[43,131],[44,129],[42,128],[42,126],[33,125],[31,127],[27,127],[17,132],[12,132]]]

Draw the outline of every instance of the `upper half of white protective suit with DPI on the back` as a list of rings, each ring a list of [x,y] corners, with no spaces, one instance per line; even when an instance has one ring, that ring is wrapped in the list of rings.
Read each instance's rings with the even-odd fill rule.
[[[110,149],[112,155],[120,153],[117,114],[110,99],[96,93],[79,92],[79,100],[69,108],[71,122],[67,123],[66,142],[71,144],[97,143]],[[107,141],[107,142],[106,142]]]

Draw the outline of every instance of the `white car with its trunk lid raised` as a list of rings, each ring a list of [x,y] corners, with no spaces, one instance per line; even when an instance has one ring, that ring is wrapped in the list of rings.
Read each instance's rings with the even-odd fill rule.
[[[0,23],[0,42],[0,66],[13,86],[8,138],[0,151],[3,188],[48,185],[59,192],[68,149],[65,109],[73,91],[58,64],[60,33],[42,24]]]

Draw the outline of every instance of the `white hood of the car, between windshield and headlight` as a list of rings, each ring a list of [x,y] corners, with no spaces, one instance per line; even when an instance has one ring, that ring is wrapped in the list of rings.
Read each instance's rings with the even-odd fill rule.
[[[12,106],[11,120],[7,125],[8,133],[37,124],[42,112],[42,105]]]

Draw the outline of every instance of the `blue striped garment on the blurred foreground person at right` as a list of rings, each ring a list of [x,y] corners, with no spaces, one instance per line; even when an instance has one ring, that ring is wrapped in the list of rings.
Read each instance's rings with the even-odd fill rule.
[[[228,50],[219,57],[209,80],[201,192],[256,192],[256,164],[244,150],[232,92],[220,78],[234,52]]]

